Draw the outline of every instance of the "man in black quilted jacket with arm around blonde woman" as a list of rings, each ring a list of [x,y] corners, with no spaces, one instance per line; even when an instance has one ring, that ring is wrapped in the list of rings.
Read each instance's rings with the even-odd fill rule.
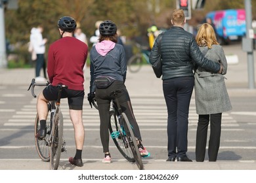
[[[221,65],[204,58],[194,35],[184,30],[186,22],[181,9],[173,11],[173,27],[161,33],[152,48],[150,63],[158,61],[158,42],[162,61],[163,95],[167,105],[167,161],[192,161],[188,151],[188,112],[194,88],[193,61],[213,73],[221,72]]]

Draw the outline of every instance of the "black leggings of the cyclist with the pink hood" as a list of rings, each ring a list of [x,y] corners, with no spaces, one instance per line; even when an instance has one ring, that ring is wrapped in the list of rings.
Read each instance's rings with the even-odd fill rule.
[[[117,95],[121,110],[125,112],[130,124],[132,125],[135,137],[141,140],[139,126],[135,120],[135,116],[133,115],[133,108],[131,107],[129,93],[127,92],[123,82],[116,80],[108,88],[96,89],[95,91],[98,113],[100,114],[100,139],[103,146],[103,152],[109,152],[108,126],[110,124],[110,93],[115,90],[121,90],[121,93],[118,93]]]

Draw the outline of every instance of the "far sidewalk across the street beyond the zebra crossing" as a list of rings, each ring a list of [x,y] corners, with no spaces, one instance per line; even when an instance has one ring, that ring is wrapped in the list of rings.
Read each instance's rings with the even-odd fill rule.
[[[242,67],[245,67],[245,61],[244,63],[238,63],[237,65],[228,66],[228,73],[226,74],[226,87],[228,89],[228,94],[230,96],[256,95],[256,88],[248,88],[247,70],[245,70],[245,68],[241,69],[240,65],[242,65]],[[34,77],[34,68],[0,69],[0,86],[30,86],[31,80]],[[89,92],[89,80],[89,68],[87,68],[85,69],[85,93]],[[129,73],[128,71],[125,84],[127,88],[129,88],[130,95],[162,95],[163,93],[161,79],[156,78],[150,65],[144,65],[139,73]],[[148,86],[152,86],[150,90],[148,90]],[[138,88],[140,88],[140,91],[137,90]]]

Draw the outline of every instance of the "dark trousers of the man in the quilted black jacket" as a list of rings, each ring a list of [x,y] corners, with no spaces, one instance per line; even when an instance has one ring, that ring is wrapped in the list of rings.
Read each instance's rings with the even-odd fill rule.
[[[167,135],[169,158],[184,157],[188,150],[188,111],[194,88],[194,77],[163,80],[167,105]]]

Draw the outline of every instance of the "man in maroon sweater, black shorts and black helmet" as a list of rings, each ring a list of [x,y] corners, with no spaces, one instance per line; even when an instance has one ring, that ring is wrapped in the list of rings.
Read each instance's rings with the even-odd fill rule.
[[[37,100],[37,112],[40,121],[40,131],[37,133],[38,139],[43,139],[46,135],[46,117],[48,113],[47,102],[56,100],[58,95],[58,84],[68,86],[62,90],[62,98],[68,98],[70,108],[70,119],[75,130],[75,157],[69,159],[70,163],[76,166],[83,166],[81,153],[85,138],[83,127],[83,98],[84,98],[84,76],[83,66],[87,59],[88,46],[84,42],[73,37],[76,28],[74,18],[64,16],[58,20],[60,37],[53,42],[48,52],[47,73],[49,82]]]

